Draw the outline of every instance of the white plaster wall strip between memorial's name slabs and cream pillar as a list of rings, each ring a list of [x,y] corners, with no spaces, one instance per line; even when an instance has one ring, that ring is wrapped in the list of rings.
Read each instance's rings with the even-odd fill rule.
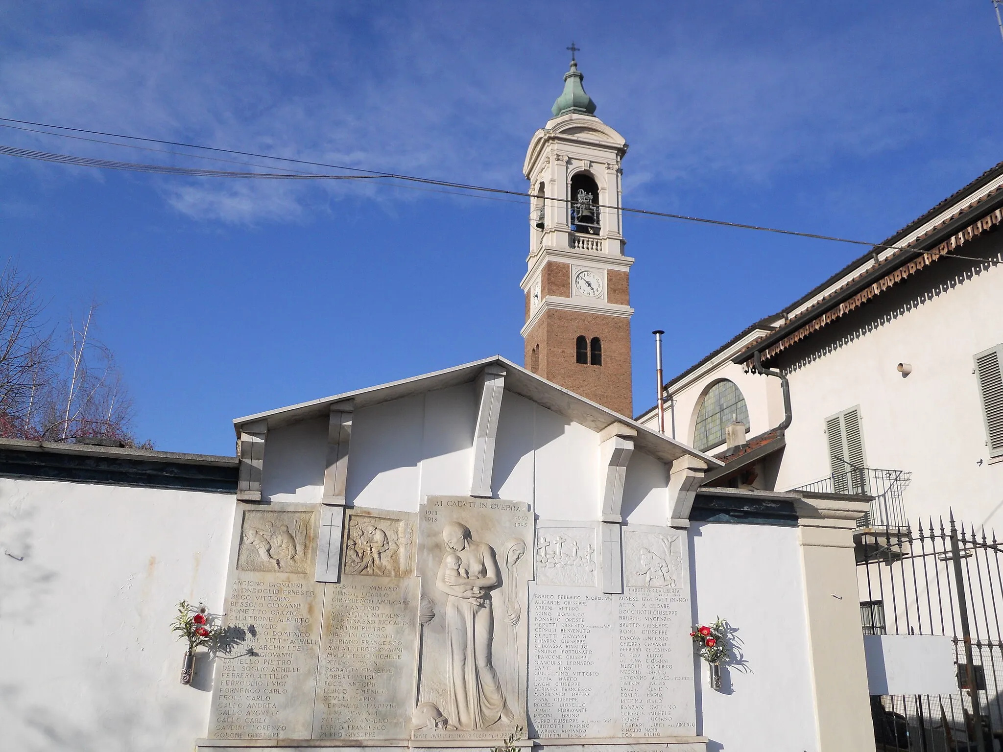
[[[737,628],[745,673],[707,686],[700,661],[698,733],[709,751],[818,749],[804,583],[796,527],[694,522],[690,527],[693,621]]]

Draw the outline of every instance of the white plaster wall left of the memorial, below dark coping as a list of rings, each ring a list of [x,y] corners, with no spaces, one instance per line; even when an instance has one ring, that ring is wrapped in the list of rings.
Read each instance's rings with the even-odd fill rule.
[[[0,479],[0,747],[188,752],[182,599],[223,605],[235,497]],[[21,560],[12,556],[21,557]]]

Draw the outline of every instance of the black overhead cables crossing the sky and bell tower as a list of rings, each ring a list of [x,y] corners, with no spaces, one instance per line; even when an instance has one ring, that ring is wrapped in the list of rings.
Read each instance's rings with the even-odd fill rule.
[[[1003,0],[1000,0],[1003,2]],[[341,169],[350,172],[357,172],[362,174],[355,175],[339,175],[339,174],[327,174],[319,172],[308,172],[305,170],[294,170],[285,167],[269,167],[264,164],[254,164],[251,162],[244,162],[233,159],[221,159],[219,157],[207,157],[201,154],[192,154],[183,151],[168,151],[164,149],[151,149],[144,146],[138,146],[132,143],[118,143],[114,141],[106,141],[96,138],[81,138],[80,136],[70,135],[69,133],[53,132],[51,130],[36,130],[34,128],[17,127],[15,125],[9,125],[7,123],[18,123],[19,125],[34,125],[41,128],[55,128],[57,130],[68,130],[73,133],[87,133],[89,135],[103,135],[110,138],[125,138],[128,140],[144,141],[146,143],[159,143],[170,146],[179,146],[183,148],[195,148],[205,151],[214,151],[217,153],[234,154],[237,156],[249,156],[257,159],[272,159],[276,161],[284,161],[291,164],[302,164],[306,166],[313,167],[327,167],[330,169]],[[6,154],[8,156],[19,156],[22,158],[36,159],[41,161],[59,162],[64,164],[72,164],[76,166],[86,166],[86,167],[96,167],[101,169],[117,169],[117,170],[128,170],[128,171],[138,171],[138,172],[151,172],[159,174],[176,174],[194,177],[229,177],[229,178],[245,178],[245,179],[311,179],[311,180],[337,180],[337,179],[374,179],[374,178],[390,178],[393,180],[402,180],[405,182],[421,183],[425,185],[437,185],[441,187],[454,189],[455,191],[472,192],[474,194],[494,194],[496,196],[510,196],[516,197],[520,200],[520,203],[532,201],[533,197],[518,191],[510,191],[508,189],[490,187],[487,185],[476,185],[471,183],[454,182],[452,180],[440,180],[432,177],[421,177],[418,175],[408,175],[396,172],[384,172],[374,169],[366,169],[363,167],[351,167],[344,164],[331,164],[328,162],[311,161],[308,159],[296,159],[289,156],[276,156],[274,154],[262,154],[254,151],[243,151],[240,149],[229,149],[221,148],[218,146],[206,146],[198,143],[186,143],[184,141],[172,141],[161,138],[149,138],[146,136],[138,135],[127,135],[123,133],[111,133],[103,130],[90,130],[87,128],[73,128],[65,125],[53,125],[51,123],[44,122],[34,122],[31,120],[18,120],[10,117],[0,117],[0,126],[14,128],[17,130],[27,130],[35,133],[42,133],[45,135],[54,135],[63,138],[75,138],[78,140],[95,141],[98,143],[105,143],[113,146],[119,146],[123,148],[139,148],[147,151],[158,151],[162,153],[170,153],[179,156],[190,156],[193,158],[202,159],[213,159],[218,161],[227,161],[237,164],[247,164],[249,166],[256,167],[268,167],[271,169],[284,169],[283,172],[248,172],[244,170],[220,170],[220,169],[200,169],[197,167],[178,167],[169,166],[162,164],[147,164],[141,162],[126,162],[126,161],[115,161],[109,159],[97,159],[93,157],[77,156],[73,154],[58,154],[48,151],[35,151],[33,149],[24,149],[16,146],[7,146],[0,144],[0,154]],[[400,185],[399,187],[403,187]],[[452,193],[452,192],[442,192],[442,193]],[[470,196],[469,193],[457,194],[459,196]],[[483,197],[486,198],[486,197]],[[557,198],[547,198],[545,201],[560,202],[564,204],[571,204],[573,201],[571,199],[557,199]],[[922,253],[915,249],[908,249],[903,246],[887,245],[882,243],[872,243],[870,241],[858,241],[849,238],[839,238],[830,235],[819,235],[816,233],[804,233],[796,230],[783,230],[780,228],[770,228],[760,225],[749,225],[740,222],[727,222],[725,220],[711,220],[705,217],[694,217],[690,215],[679,215],[670,212],[657,212],[648,209],[637,209],[634,207],[616,207],[606,204],[596,204],[596,207],[601,209],[612,209],[619,210],[621,212],[626,212],[629,214],[640,215],[643,217],[655,217],[659,219],[667,220],[677,220],[680,222],[691,222],[702,225],[713,225],[717,227],[735,228],[738,230],[752,230],[761,233],[774,233],[776,235],[787,235],[796,238],[809,238],[812,240],[819,241],[830,241],[832,243],[846,243],[855,246],[867,246],[874,249],[883,250],[894,250],[894,251],[910,251],[911,253]],[[989,261],[990,263],[999,263],[994,260],[978,259],[974,257],[967,256],[957,256],[955,254],[949,254],[956,259],[966,259],[970,261]]]

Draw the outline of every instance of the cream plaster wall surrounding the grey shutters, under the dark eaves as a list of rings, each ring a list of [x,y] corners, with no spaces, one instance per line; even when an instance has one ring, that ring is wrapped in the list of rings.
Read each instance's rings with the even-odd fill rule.
[[[953,507],[967,522],[1003,523],[1003,463],[988,462],[972,373],[973,356],[1001,342],[1003,269],[995,267],[793,371],[777,488],[828,475],[824,420],[860,405],[868,465],[913,473],[910,518]],[[900,362],[913,365],[908,378]]]

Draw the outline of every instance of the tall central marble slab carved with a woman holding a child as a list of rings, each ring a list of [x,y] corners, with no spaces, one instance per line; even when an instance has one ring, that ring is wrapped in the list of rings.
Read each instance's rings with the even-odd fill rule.
[[[521,502],[429,496],[418,533],[413,738],[498,740],[525,728],[533,515]]]

